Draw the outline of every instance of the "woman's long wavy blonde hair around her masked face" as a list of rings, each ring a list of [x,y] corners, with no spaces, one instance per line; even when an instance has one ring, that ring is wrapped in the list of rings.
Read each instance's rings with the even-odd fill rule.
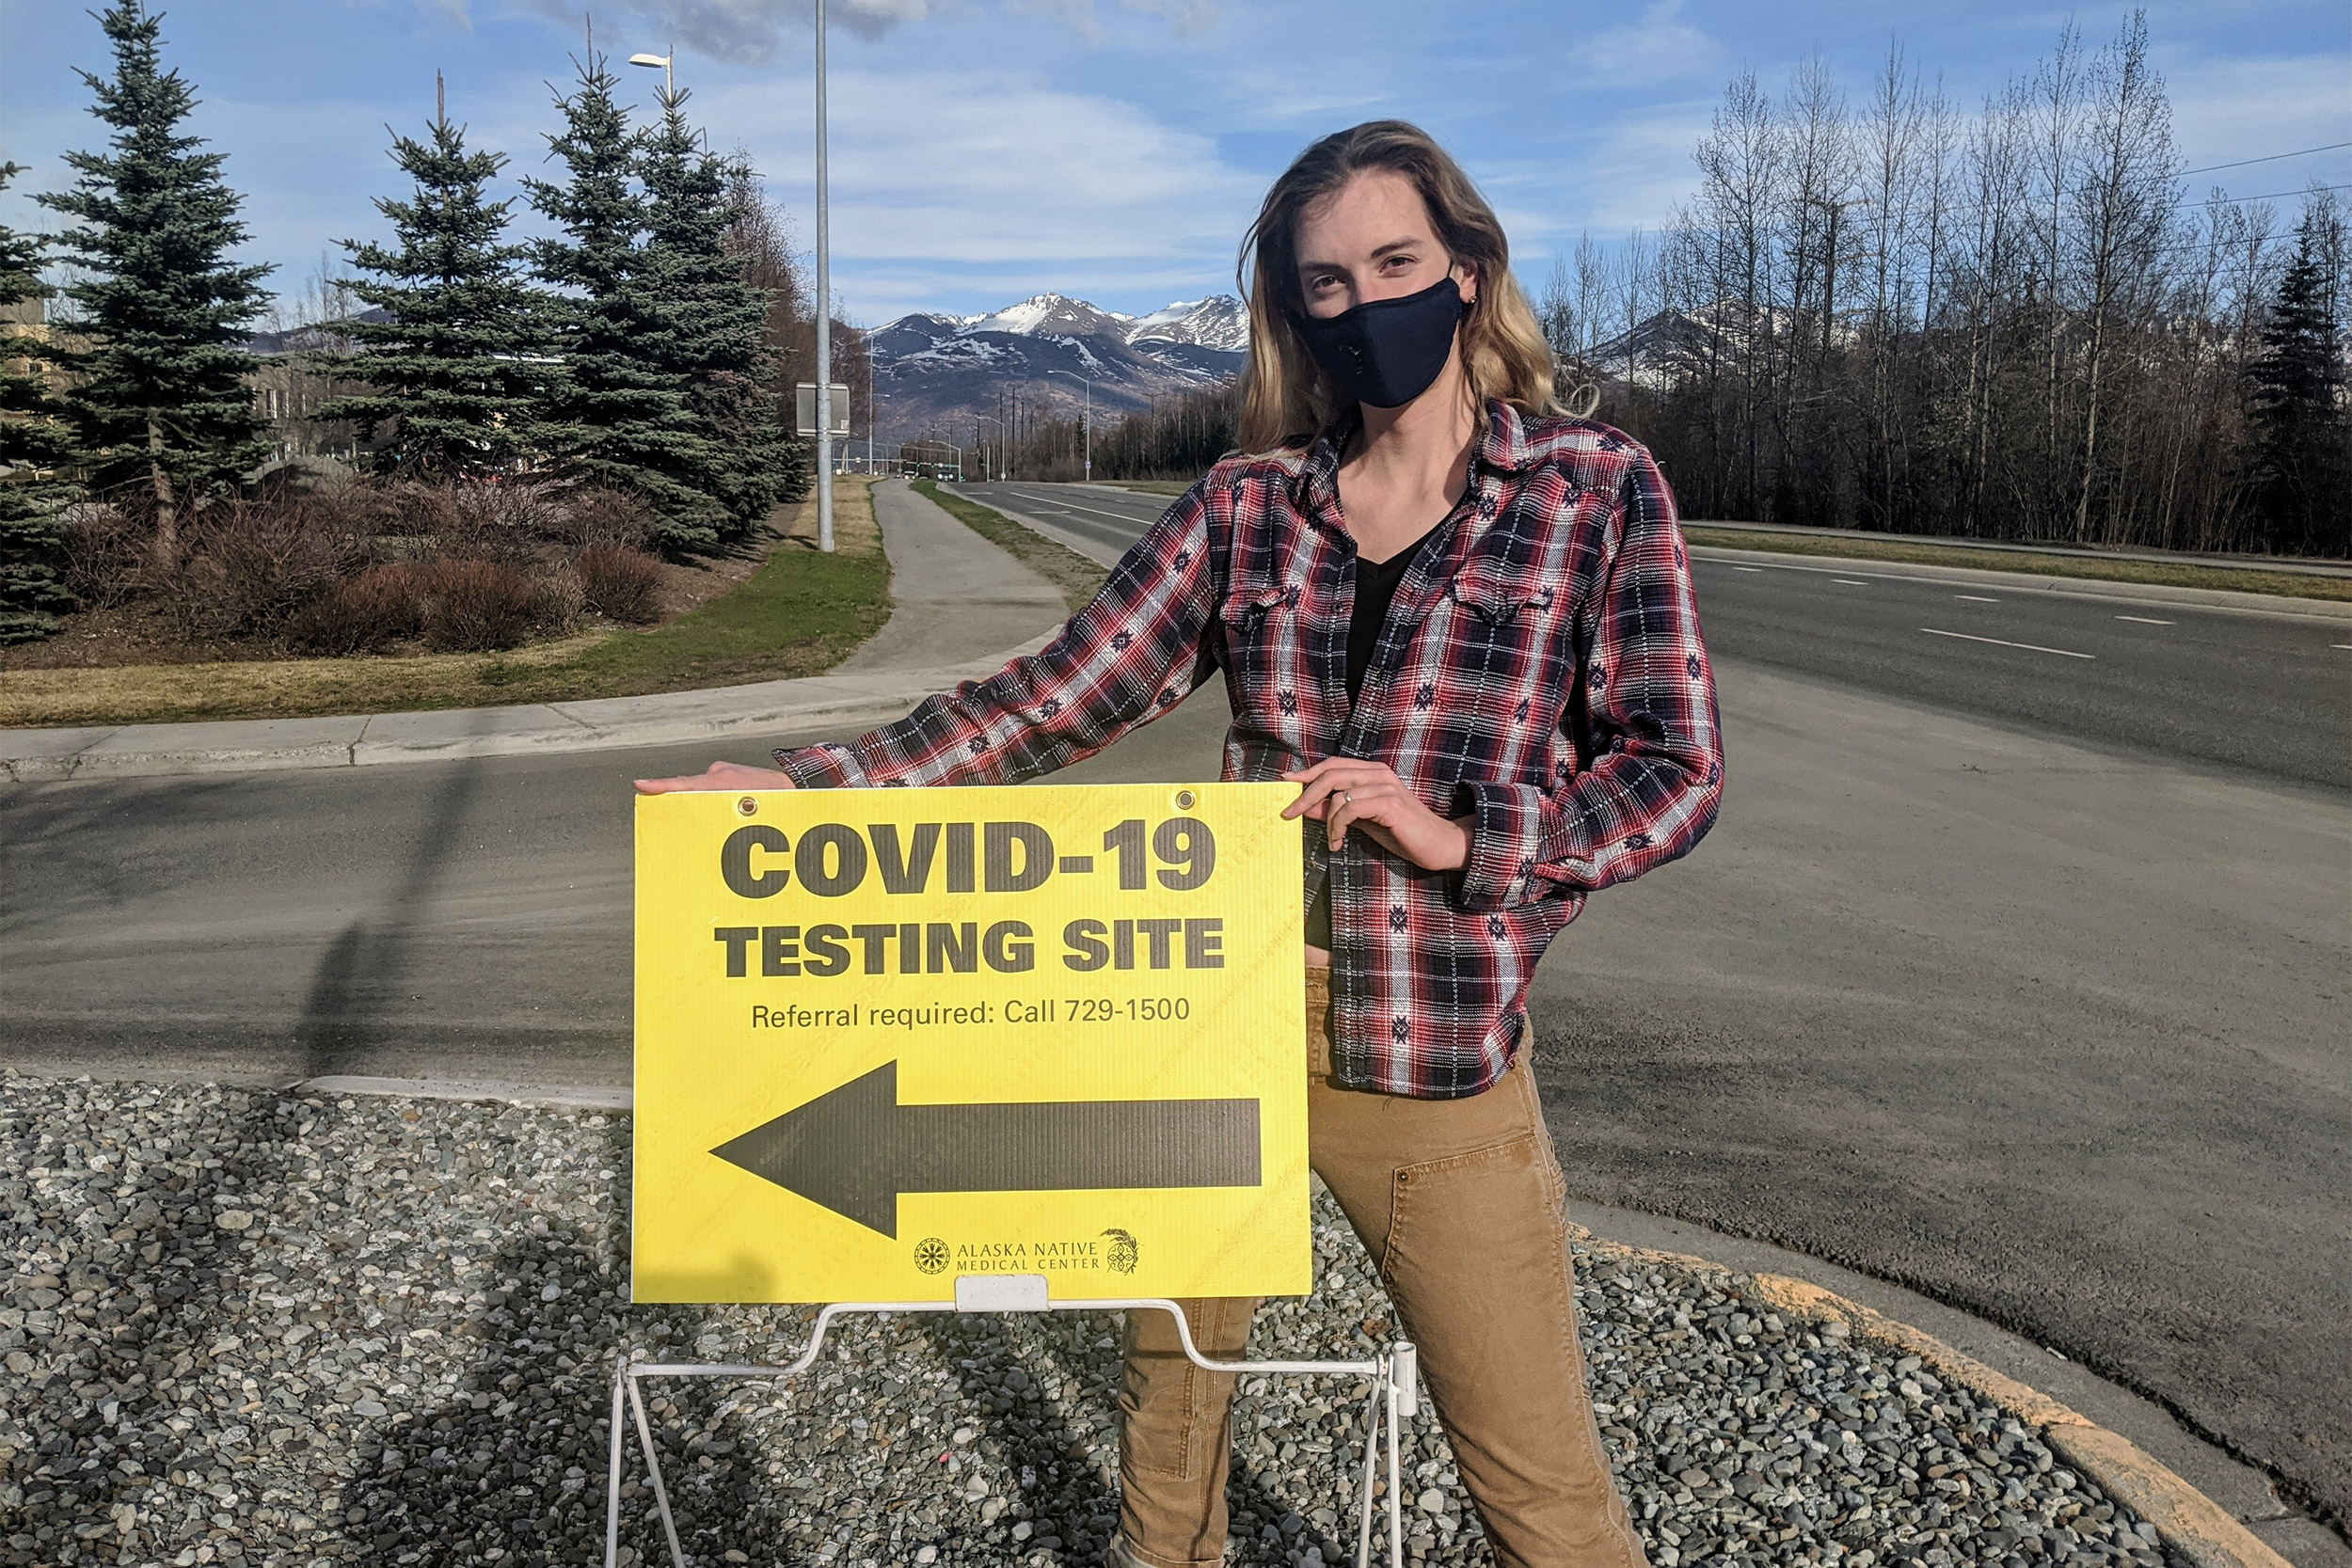
[[[1404,120],[1367,120],[1324,136],[1282,172],[1256,223],[1242,235],[1235,273],[1249,299],[1249,364],[1242,371],[1242,451],[1270,451],[1312,440],[1348,407],[1324,376],[1291,315],[1305,315],[1298,292],[1298,221],[1357,174],[1390,169],[1414,181],[1430,209],[1437,242],[1477,266],[1477,299],[1463,313],[1461,353],[1470,400],[1484,423],[1486,400],[1526,414],[1562,411],[1552,348],[1510,275],[1510,240],[1494,207],[1428,132]]]

